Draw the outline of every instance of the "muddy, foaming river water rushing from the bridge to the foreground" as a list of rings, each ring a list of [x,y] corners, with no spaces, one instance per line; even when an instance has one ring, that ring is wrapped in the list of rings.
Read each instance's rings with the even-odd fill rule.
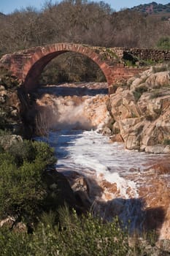
[[[84,189],[87,194],[84,199],[90,201],[95,214],[109,220],[118,215],[124,225],[131,221],[130,230],[139,231],[148,228],[156,216],[154,228],[159,228],[163,222],[160,216],[169,207],[170,174],[164,169],[164,173],[162,170],[159,173],[153,165],[158,164],[160,168],[163,161],[169,164],[170,156],[129,151],[123,143],[112,143],[97,130],[85,130],[106,123],[107,98],[102,97],[45,95],[40,105],[50,105],[52,100],[55,114],[48,113],[45,119],[56,121],[55,127],[61,129],[40,139],[55,148],[56,170],[69,179],[73,189],[77,180],[80,181],[76,191]]]

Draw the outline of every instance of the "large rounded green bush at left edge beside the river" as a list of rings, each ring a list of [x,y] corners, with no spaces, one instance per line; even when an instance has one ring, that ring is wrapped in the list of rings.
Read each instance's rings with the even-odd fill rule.
[[[43,173],[56,162],[46,143],[15,143],[0,154],[0,218],[15,216],[27,223],[39,217],[47,196]]]

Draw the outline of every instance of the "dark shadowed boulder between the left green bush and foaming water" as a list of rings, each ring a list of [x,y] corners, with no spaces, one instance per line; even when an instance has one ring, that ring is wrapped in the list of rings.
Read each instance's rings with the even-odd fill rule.
[[[49,207],[55,208],[66,204],[69,208],[76,209],[78,213],[85,213],[90,209],[88,184],[78,173],[69,172],[67,176],[57,170],[47,170],[44,180],[47,184]]]

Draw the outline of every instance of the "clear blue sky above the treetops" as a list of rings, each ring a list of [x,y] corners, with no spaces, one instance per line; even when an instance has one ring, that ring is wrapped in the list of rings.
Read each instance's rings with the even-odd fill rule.
[[[100,1],[100,0],[93,0]],[[120,10],[124,7],[134,7],[139,4],[148,4],[154,0],[104,0],[106,3],[110,4],[114,10]],[[156,0],[155,0],[156,1]],[[54,3],[55,0],[52,0]],[[158,4],[168,4],[170,0],[158,0]],[[22,7],[36,7],[37,10],[40,10],[45,3],[45,0],[0,0],[0,12],[5,14],[13,12],[14,10],[20,10]]]

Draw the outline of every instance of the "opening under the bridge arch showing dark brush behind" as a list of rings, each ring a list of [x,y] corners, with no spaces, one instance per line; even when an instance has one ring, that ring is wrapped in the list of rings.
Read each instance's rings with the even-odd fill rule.
[[[106,81],[104,73],[94,61],[72,51],[50,61],[39,77],[39,83],[42,85]]]

